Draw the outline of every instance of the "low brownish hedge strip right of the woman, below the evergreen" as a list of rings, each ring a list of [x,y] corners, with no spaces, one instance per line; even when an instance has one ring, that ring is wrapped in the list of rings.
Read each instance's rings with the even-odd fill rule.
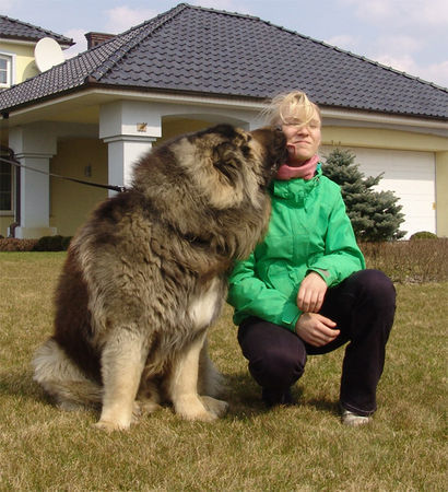
[[[393,282],[448,281],[448,239],[361,243],[367,268],[382,270]]]

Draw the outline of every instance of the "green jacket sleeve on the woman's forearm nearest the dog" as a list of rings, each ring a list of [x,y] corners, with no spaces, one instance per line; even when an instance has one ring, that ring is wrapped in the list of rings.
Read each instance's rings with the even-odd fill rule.
[[[229,279],[227,302],[235,308],[236,325],[248,316],[257,316],[295,331],[302,314],[293,301],[257,278],[254,253],[247,260],[236,263]]]

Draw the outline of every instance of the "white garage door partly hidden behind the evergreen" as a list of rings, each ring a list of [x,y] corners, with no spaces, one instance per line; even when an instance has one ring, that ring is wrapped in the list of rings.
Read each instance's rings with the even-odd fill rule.
[[[343,148],[342,148],[343,149]],[[325,157],[332,150],[322,145]],[[401,230],[406,238],[417,231],[436,233],[436,166],[431,152],[409,152],[378,149],[351,148],[359,171],[365,176],[385,173],[378,190],[391,190],[400,199],[405,222]]]

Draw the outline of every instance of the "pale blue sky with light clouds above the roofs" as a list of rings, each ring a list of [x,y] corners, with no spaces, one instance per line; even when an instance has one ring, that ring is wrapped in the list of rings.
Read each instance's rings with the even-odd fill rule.
[[[0,14],[73,38],[118,34],[163,13],[173,0],[0,0]],[[448,87],[447,0],[189,0],[254,15],[314,39]]]

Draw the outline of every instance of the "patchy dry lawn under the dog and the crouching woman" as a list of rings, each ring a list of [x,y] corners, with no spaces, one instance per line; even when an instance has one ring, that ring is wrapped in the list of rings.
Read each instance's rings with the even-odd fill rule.
[[[446,490],[447,282],[397,285],[370,426],[340,424],[342,350],[308,360],[299,405],[267,411],[227,307],[211,355],[227,379],[228,414],[191,423],[166,408],[105,434],[95,412],[61,412],[32,380],[64,255],[0,254],[0,490]]]

